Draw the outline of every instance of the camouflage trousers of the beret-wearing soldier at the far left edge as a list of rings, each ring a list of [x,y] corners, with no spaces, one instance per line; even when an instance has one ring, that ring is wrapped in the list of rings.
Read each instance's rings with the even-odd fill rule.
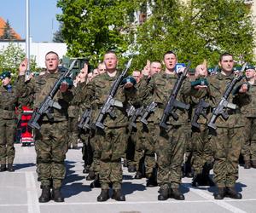
[[[14,163],[15,130],[15,119],[0,119],[0,164]]]

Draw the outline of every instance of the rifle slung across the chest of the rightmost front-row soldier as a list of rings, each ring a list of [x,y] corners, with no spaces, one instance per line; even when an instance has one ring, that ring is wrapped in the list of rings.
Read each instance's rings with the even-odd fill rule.
[[[218,116],[221,116],[222,118],[224,118],[224,120],[227,120],[229,118],[228,113],[224,111],[226,108],[236,109],[236,104],[230,103],[228,101],[228,97],[229,97],[230,93],[232,92],[232,90],[234,89],[236,83],[241,81],[242,72],[244,72],[246,66],[247,66],[247,63],[244,63],[244,65],[241,68],[241,72],[239,74],[237,74],[235,76],[235,78],[233,78],[230,81],[230,83],[227,85],[227,87],[224,91],[224,95],[222,95],[220,101],[218,102],[218,106],[213,109],[212,117],[211,117],[209,123],[207,124],[209,128],[212,128],[213,130],[217,129],[217,127],[215,126],[215,122],[216,122]]]

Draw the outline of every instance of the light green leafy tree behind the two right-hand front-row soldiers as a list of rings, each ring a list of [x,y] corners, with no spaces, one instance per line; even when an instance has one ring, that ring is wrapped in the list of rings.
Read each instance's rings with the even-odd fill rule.
[[[138,27],[137,64],[160,60],[166,50],[174,50],[179,61],[192,60],[193,66],[204,59],[214,66],[224,52],[253,60],[253,21],[244,1],[145,2],[152,14]]]

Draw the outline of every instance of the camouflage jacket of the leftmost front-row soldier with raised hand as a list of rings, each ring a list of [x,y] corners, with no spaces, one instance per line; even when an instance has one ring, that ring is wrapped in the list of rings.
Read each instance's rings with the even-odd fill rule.
[[[25,83],[24,76],[19,76],[17,81],[17,89],[19,90],[21,97],[26,97],[28,95],[33,95],[33,107],[37,109],[40,104],[44,101],[45,97],[49,95],[50,90],[53,88],[55,82],[60,78],[61,73],[46,73],[42,76],[32,78],[30,81]],[[67,90],[66,93],[61,93],[60,90],[54,96],[54,101],[61,105],[61,109],[52,108],[51,114],[54,121],[64,121],[67,120],[67,108],[70,101],[73,99],[73,93]],[[48,118],[46,115],[43,117],[44,121]]]

